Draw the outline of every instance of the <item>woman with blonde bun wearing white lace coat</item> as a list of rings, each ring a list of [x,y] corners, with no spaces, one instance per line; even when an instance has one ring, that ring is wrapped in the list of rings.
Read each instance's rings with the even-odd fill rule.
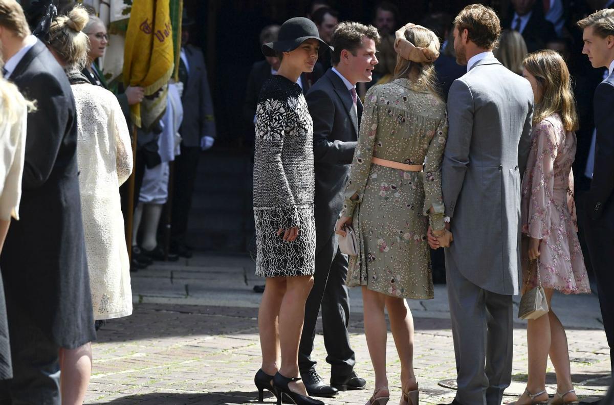
[[[47,44],[71,82],[77,110],[77,162],[81,210],[96,320],[132,313],[130,263],[124,236],[119,186],[132,172],[128,126],[117,98],[81,74],[89,40],[80,7],[56,17]],[[61,357],[62,358],[62,357]],[[61,360],[63,404],[82,404],[91,372],[91,347],[66,350]],[[89,360],[89,361],[88,361]],[[68,376],[66,376],[68,372]]]

